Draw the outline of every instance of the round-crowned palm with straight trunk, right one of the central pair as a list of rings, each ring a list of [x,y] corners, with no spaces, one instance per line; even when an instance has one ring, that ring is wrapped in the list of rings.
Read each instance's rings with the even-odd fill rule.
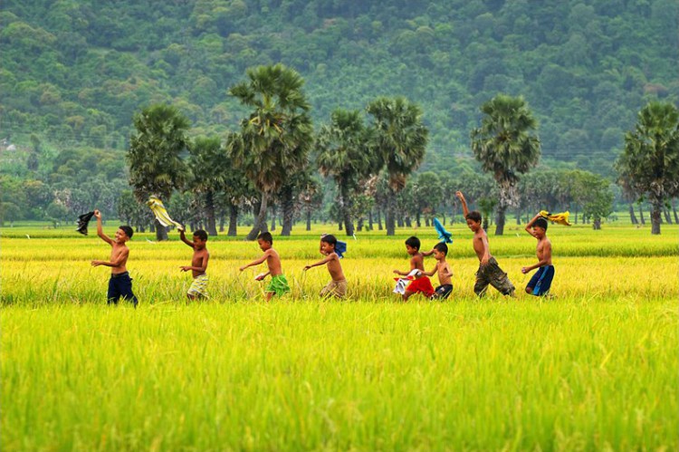
[[[367,111],[373,116],[372,146],[387,169],[387,236],[394,236],[397,194],[425,158],[428,130],[422,110],[402,97],[379,98],[370,102]]]

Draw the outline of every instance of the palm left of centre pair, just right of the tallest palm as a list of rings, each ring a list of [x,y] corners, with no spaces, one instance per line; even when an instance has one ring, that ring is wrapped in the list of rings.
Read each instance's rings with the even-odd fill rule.
[[[339,192],[339,215],[347,236],[354,235],[351,220],[352,195],[359,181],[367,178],[375,167],[367,147],[367,131],[359,111],[337,109],[330,115],[330,124],[320,128],[317,139],[319,155],[316,162],[324,177],[331,177]]]

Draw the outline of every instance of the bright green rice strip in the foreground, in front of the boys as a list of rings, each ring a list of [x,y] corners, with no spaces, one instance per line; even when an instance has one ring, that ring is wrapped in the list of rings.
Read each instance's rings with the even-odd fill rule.
[[[0,313],[4,450],[676,450],[676,301]]]

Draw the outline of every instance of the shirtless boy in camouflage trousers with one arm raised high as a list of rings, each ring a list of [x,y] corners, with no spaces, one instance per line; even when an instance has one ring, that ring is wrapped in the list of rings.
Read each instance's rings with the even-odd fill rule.
[[[507,274],[502,272],[502,268],[500,268],[495,258],[491,255],[491,246],[488,244],[488,236],[486,236],[485,231],[481,226],[481,214],[475,210],[472,212],[469,211],[469,208],[467,208],[467,201],[464,199],[464,195],[461,191],[455,192],[455,196],[458,197],[462,203],[462,210],[464,218],[467,220],[467,226],[473,232],[473,251],[479,258],[479,269],[476,272],[476,282],[473,284],[473,292],[481,297],[488,289],[488,284],[491,284],[503,295],[514,296],[514,285],[507,277]]]

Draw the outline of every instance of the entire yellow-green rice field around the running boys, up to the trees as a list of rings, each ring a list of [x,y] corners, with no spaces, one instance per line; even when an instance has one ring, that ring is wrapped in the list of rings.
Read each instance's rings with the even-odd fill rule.
[[[112,236],[117,225],[105,231]],[[3,228],[1,444],[14,450],[677,450],[679,227],[550,226],[550,299],[522,288],[535,239],[490,236],[517,287],[473,294],[478,260],[462,224],[454,292],[400,302],[404,241],[433,230],[358,233],[344,301],[319,236],[274,248],[292,293],[263,302],[256,242],[211,237],[210,299],[186,303],[192,250],[129,242],[139,307],[107,306],[110,246],[91,227]],[[242,228],[241,233],[246,232]],[[339,239],[343,239],[338,235]],[[426,259],[426,267],[434,265]],[[434,284],[437,281],[434,278]]]

